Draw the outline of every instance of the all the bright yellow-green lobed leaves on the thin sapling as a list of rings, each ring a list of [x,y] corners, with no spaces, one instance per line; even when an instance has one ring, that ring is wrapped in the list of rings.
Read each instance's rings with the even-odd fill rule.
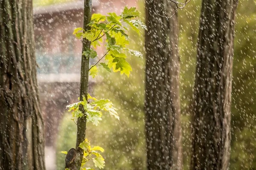
[[[90,76],[93,78],[98,74],[97,65],[102,66],[107,71],[113,72],[120,71],[121,74],[126,74],[128,77],[132,71],[131,65],[126,61],[126,53],[129,52],[137,57],[142,57],[142,54],[139,51],[134,51],[128,49],[126,45],[129,45],[129,37],[125,33],[128,29],[122,25],[122,23],[128,23],[132,29],[137,31],[137,34],[140,35],[139,26],[146,28],[145,24],[136,18],[140,16],[140,12],[136,8],[125,7],[121,15],[117,16],[115,13],[108,13],[107,16],[102,14],[93,14],[91,22],[88,24],[90,29],[85,31],[83,28],[76,28],[73,31],[73,34],[76,38],[81,39],[82,42],[90,41],[94,49],[97,46],[100,46],[100,43],[105,39],[106,54],[105,57],[108,62],[100,62],[103,57],[99,58],[97,52],[93,48],[87,48],[83,51],[82,55],[87,59],[93,59],[97,57],[99,60],[96,64],[90,66],[89,72]],[[89,101],[90,100],[90,101]],[[89,94],[86,97],[83,96],[83,100],[80,100],[77,103],[67,105],[69,111],[72,111],[73,121],[74,119],[87,116],[87,122],[92,122],[93,125],[99,125],[99,122],[102,121],[102,111],[108,113],[108,115],[115,117],[119,120],[117,114],[117,109],[113,107],[113,103],[109,99],[100,99],[97,100],[94,97],[91,97]],[[105,166],[105,160],[102,155],[97,152],[97,150],[104,152],[102,147],[96,146],[91,148],[90,142],[85,139],[84,142],[79,144],[79,147],[84,150],[84,156],[82,159],[81,169],[82,170],[92,170],[91,168],[84,168],[84,164],[93,160],[95,167],[100,169]],[[61,153],[67,154],[66,151]]]

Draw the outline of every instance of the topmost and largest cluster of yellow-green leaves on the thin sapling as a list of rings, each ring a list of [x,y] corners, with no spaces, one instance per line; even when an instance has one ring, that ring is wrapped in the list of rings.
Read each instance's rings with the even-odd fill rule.
[[[139,51],[134,51],[126,48],[126,45],[129,45],[130,38],[126,34],[128,29],[123,26],[123,23],[128,23],[133,30],[140,35],[139,28],[145,28],[146,26],[143,22],[137,19],[140,17],[140,11],[137,11],[135,7],[128,8],[125,7],[121,15],[116,15],[115,13],[108,13],[107,16],[102,14],[93,14],[92,20],[89,23],[90,30],[84,31],[83,28],[76,28],[73,34],[78,39],[87,39],[91,42],[93,48],[96,49],[97,46],[100,46],[100,42],[103,42],[105,37],[105,47],[107,53],[103,56],[108,62],[101,62],[99,65],[105,68],[107,71],[113,72],[120,71],[121,74],[126,74],[128,77],[132,71],[131,65],[126,61],[126,53],[142,57],[142,54]],[[96,51],[91,49],[86,49],[83,51],[83,55],[87,58],[97,57]],[[100,58],[99,61],[101,59]],[[98,62],[99,62],[98,61]],[[98,63],[97,62],[97,63]],[[96,63],[96,64],[97,64]],[[90,67],[90,75],[94,78],[97,75],[97,67],[93,65]]]

